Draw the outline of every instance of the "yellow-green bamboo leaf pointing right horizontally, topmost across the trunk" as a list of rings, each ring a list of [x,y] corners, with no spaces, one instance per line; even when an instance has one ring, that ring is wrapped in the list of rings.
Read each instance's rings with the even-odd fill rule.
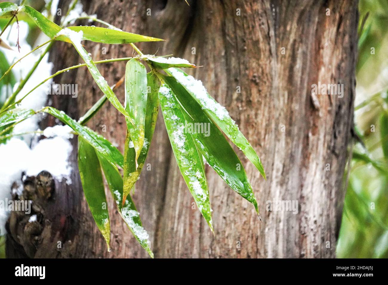
[[[163,41],[162,39],[152,38],[151,36],[142,36],[125,31],[94,26],[72,26],[67,28],[76,32],[82,31],[84,40],[94,41],[96,43],[123,44],[137,43],[140,41]]]

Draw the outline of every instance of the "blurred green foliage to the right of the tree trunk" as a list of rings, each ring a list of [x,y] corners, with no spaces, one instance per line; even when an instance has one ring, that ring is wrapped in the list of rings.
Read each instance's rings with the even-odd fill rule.
[[[337,257],[388,257],[388,1],[359,3],[355,128]],[[347,173],[346,171],[346,173]],[[345,173],[345,181],[346,181]]]

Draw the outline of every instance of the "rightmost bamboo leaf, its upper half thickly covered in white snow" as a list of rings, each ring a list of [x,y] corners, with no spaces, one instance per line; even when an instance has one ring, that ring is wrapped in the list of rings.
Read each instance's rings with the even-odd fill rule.
[[[187,75],[180,69],[170,68],[166,71],[168,74],[172,75],[177,79],[177,81],[184,86],[187,90],[187,95],[194,98],[197,103],[204,110],[206,115],[211,118],[215,124],[227,135],[227,137],[235,144],[239,149],[244,152],[246,157],[256,166],[258,171],[262,174],[264,179],[265,171],[262,165],[262,162],[255,150],[245,138],[245,136],[239,130],[237,124],[229,116],[228,111],[225,107],[217,103],[216,100],[211,97],[202,82],[194,79],[192,76]]]

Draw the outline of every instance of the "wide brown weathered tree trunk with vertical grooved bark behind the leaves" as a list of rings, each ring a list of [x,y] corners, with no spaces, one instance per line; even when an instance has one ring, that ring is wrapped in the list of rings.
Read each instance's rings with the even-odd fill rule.
[[[62,11],[69,2],[60,2]],[[227,108],[267,173],[264,181],[237,152],[259,203],[260,223],[254,207],[206,166],[213,237],[198,209],[192,209],[194,200],[159,114],[146,161],[151,170],[144,168],[133,195],[155,257],[335,257],[353,125],[357,1],[189,3],[190,7],[183,0],[83,1],[85,12],[124,31],[166,39],[139,44],[144,53],[174,54],[203,66],[188,72]],[[129,45],[84,45],[94,60],[133,53]],[[55,70],[81,62],[74,48],[63,42],[55,44],[50,60]],[[111,85],[125,72],[122,62],[98,67]],[[343,97],[312,95],[312,85],[319,81],[343,84]],[[64,73],[55,82],[78,84],[78,98],[50,98],[54,107],[74,119],[102,95],[85,68]],[[116,95],[124,101],[123,87]],[[54,119],[48,117],[43,124],[55,124]],[[123,150],[124,117],[109,102],[88,126]],[[107,252],[83,197],[76,138],[73,145],[73,183],[56,182],[56,198],[46,211],[35,257],[147,257],[110,198],[112,250]],[[269,200],[297,201],[298,213],[267,211]],[[7,252],[17,255],[11,242]]]

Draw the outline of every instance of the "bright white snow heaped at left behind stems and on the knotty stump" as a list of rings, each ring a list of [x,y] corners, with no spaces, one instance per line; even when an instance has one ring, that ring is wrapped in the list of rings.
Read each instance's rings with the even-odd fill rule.
[[[53,14],[56,13],[57,2],[57,0],[54,0],[52,4]],[[28,24],[19,20],[19,26],[20,54],[16,51],[2,49],[2,52],[10,64],[31,51],[31,47],[25,40],[29,31]],[[15,46],[18,35],[16,24],[8,27],[4,35],[7,36],[3,36],[2,40],[7,40],[10,46]],[[44,39],[44,37],[39,37],[36,45],[43,41],[46,41],[46,39]],[[40,48],[33,54],[28,55],[14,66],[12,71],[17,82],[26,77],[31,67],[40,57],[44,48],[45,47]],[[51,75],[52,63],[48,62],[48,58],[49,54],[46,54],[45,57],[43,57],[35,72],[17,95],[16,100],[23,97],[39,82]],[[31,108],[34,110],[42,108],[47,102],[47,85],[51,85],[51,83],[52,80],[50,79],[45,84],[36,88],[18,107]],[[16,90],[17,84],[14,86],[14,90]],[[9,86],[5,87],[2,89],[2,92],[7,90],[7,88],[8,90],[10,89]],[[35,115],[16,124],[13,133],[17,134],[38,130],[40,118],[40,116]],[[72,150],[72,146],[67,138],[70,138],[72,134],[69,134],[66,131],[66,127],[63,126],[47,128],[45,133],[47,136],[57,136],[36,143],[31,142],[35,137],[34,135],[23,135],[18,136],[17,138],[11,138],[7,143],[0,145],[0,159],[3,162],[0,165],[0,200],[11,199],[11,186],[14,182],[19,184],[19,187],[15,189],[15,191],[23,191],[23,186],[21,185],[21,174],[23,171],[26,172],[26,175],[32,176],[38,174],[42,170],[47,170],[56,179],[61,180],[62,178],[65,178],[67,183],[71,183],[69,177],[71,167],[68,163],[68,157]],[[32,148],[29,146],[32,146]],[[8,211],[0,211],[0,235],[5,234],[4,226],[8,219],[8,214]]]

